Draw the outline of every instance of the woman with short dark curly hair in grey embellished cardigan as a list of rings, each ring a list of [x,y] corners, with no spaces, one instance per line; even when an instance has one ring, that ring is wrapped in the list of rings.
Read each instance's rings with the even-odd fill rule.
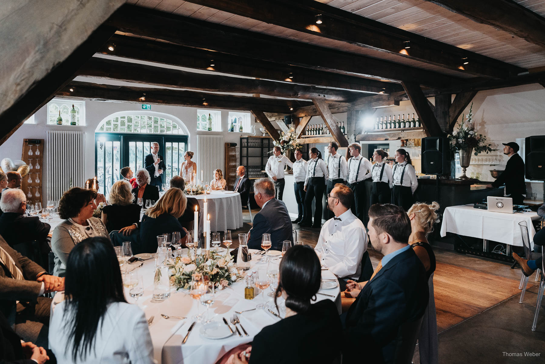
[[[64,277],[68,254],[77,243],[93,236],[110,239],[106,226],[99,218],[93,217],[95,199],[94,190],[79,187],[69,189],[60,198],[59,216],[65,220],[53,230],[51,237],[51,249],[55,254],[55,276]]]

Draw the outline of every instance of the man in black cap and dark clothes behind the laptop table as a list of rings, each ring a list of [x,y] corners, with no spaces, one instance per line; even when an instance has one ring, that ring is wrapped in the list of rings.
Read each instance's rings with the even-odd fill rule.
[[[505,183],[504,196],[513,199],[513,205],[522,205],[526,196],[526,183],[524,182],[524,161],[518,155],[519,146],[516,142],[502,143],[505,145],[504,154],[509,157],[505,165],[505,171],[496,178],[488,188],[498,188]]]

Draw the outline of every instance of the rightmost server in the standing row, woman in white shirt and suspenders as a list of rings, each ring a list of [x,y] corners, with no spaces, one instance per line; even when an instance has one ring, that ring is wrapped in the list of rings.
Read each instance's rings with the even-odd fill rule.
[[[397,164],[393,166],[392,204],[407,211],[414,204],[413,194],[418,187],[416,172],[411,164],[409,152],[398,149],[395,154]]]

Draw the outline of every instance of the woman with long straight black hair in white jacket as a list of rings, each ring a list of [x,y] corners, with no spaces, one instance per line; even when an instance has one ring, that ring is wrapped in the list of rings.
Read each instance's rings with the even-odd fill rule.
[[[66,262],[65,300],[54,309],[49,344],[62,363],[153,363],[142,309],[125,300],[110,240],[77,244]]]

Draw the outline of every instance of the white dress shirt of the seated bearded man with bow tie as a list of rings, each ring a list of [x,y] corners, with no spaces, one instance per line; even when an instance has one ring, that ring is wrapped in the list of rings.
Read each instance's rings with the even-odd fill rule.
[[[341,220],[332,218],[322,226],[314,252],[337,278],[359,279],[368,242],[364,223],[350,209],[338,218]]]

